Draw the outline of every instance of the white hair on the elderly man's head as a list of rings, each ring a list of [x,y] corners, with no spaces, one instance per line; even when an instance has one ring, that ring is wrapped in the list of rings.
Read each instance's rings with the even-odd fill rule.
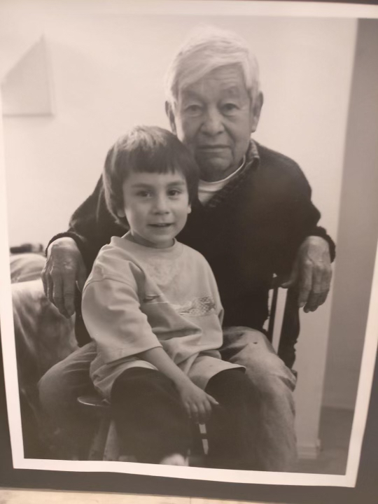
[[[198,27],[183,43],[167,71],[165,92],[169,104],[176,106],[180,90],[212,70],[231,64],[241,67],[246,90],[254,103],[260,88],[258,62],[246,42],[232,31]]]

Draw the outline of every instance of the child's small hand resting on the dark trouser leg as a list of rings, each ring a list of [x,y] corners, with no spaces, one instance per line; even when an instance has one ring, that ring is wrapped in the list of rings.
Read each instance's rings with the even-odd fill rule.
[[[193,382],[179,388],[181,400],[186,412],[195,423],[206,423],[211,415],[211,408],[219,403]]]

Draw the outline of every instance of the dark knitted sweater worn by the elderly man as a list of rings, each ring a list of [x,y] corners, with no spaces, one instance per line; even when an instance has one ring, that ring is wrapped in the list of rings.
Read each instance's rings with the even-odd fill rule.
[[[317,226],[320,213],[311,202],[311,188],[300,167],[263,146],[253,142],[251,146],[240,174],[208,204],[193,203],[178,239],[209,261],[225,309],[224,325],[261,330],[268,316],[273,274],[290,273],[297,249],[308,236],[326,239],[332,260],[335,244]],[[106,207],[99,179],[92,195],[73,214],[69,231],[53,239],[75,239],[89,272],[99,248],[125,232]]]

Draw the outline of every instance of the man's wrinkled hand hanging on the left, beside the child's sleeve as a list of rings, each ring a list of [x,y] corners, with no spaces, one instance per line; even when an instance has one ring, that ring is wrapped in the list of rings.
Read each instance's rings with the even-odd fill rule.
[[[42,271],[43,288],[48,299],[66,318],[75,313],[76,283],[83,290],[87,272],[78,246],[70,237],[58,238],[48,246]]]

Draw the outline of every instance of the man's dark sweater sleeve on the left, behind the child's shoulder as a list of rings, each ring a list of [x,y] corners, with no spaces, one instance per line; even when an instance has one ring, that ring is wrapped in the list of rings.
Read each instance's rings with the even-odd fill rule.
[[[69,220],[68,230],[59,232],[52,237],[48,246],[58,238],[72,238],[75,240],[89,272],[99,249],[109,243],[112,236],[121,236],[126,231],[127,226],[122,227],[116,223],[106,207],[101,176],[93,193],[73,212]]]

